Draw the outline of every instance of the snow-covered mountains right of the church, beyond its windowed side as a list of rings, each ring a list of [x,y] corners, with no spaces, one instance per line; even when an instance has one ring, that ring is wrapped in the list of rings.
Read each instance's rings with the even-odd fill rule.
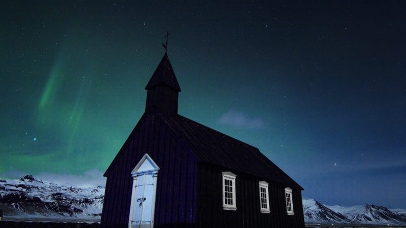
[[[327,206],[313,199],[303,199],[304,222],[307,224],[406,224],[406,210],[388,210],[383,206]]]

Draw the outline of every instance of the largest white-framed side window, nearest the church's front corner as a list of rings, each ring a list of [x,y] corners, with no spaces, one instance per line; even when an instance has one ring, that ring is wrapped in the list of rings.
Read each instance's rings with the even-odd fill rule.
[[[235,203],[235,177],[232,172],[223,172],[223,209],[237,209]]]

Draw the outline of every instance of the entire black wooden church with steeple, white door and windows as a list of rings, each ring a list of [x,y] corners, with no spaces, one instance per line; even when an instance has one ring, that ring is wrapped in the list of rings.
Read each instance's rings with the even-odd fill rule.
[[[101,227],[304,227],[303,188],[254,146],[178,114],[165,53],[144,115],[104,174]]]

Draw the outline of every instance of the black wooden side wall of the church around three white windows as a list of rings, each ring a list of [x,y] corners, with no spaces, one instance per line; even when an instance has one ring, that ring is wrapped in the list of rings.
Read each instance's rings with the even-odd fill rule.
[[[236,211],[223,210],[222,172],[231,171],[237,175]],[[300,189],[293,189],[294,215],[287,215],[285,187],[269,183],[270,213],[260,212],[258,178],[201,163],[198,169],[198,211],[199,228],[260,228],[260,227],[304,227]]]

